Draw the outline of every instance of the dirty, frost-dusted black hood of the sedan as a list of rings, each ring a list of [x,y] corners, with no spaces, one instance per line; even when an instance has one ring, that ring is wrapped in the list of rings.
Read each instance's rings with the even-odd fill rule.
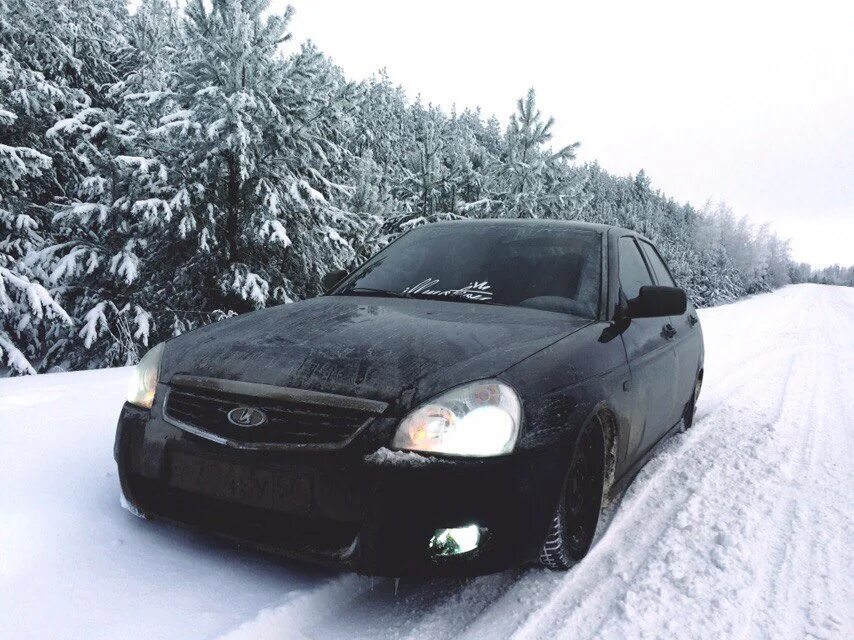
[[[173,338],[161,381],[190,374],[408,409],[455,385],[498,375],[589,323],[521,307],[324,296]]]

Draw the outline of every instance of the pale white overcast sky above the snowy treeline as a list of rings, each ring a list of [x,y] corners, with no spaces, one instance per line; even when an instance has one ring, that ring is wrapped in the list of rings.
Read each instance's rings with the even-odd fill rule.
[[[353,79],[386,67],[411,97],[505,123],[533,86],[580,161],[646,169],[698,206],[723,199],[771,221],[798,260],[854,263],[850,2],[291,4],[295,39]]]

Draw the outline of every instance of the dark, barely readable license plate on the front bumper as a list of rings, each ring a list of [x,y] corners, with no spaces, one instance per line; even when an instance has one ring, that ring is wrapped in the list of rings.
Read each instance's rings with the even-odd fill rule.
[[[307,514],[311,478],[290,471],[258,469],[173,451],[169,485],[191,493],[251,507]]]

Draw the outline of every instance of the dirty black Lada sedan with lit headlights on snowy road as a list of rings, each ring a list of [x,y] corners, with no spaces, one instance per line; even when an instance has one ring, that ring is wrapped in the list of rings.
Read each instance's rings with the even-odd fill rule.
[[[637,233],[432,224],[328,279],[143,358],[115,443],[131,510],[367,574],[565,569],[691,425],[700,325]]]

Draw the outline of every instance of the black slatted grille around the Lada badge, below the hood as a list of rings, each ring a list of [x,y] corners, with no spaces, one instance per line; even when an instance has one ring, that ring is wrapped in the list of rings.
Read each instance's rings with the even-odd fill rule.
[[[233,409],[250,407],[266,416],[258,426],[232,424]],[[227,444],[262,448],[282,446],[342,446],[374,417],[358,408],[324,406],[316,402],[270,399],[192,387],[171,387],[166,396],[167,419],[201,432],[197,435],[221,439]],[[254,445],[254,446],[253,446]]]

